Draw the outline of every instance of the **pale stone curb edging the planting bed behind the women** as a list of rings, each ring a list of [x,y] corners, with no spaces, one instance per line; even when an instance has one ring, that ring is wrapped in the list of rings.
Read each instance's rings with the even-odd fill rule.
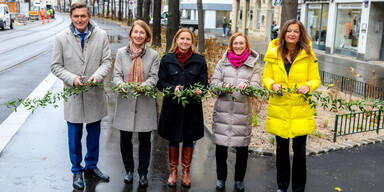
[[[206,124],[204,124],[205,129],[209,133],[209,135],[212,135],[212,129],[208,128]],[[346,142],[346,143],[340,143],[337,144],[336,146],[332,146],[331,148],[324,147],[321,149],[309,149],[307,148],[306,155],[307,156],[316,156],[316,155],[321,155],[324,153],[328,152],[333,152],[333,151],[339,151],[339,150],[346,150],[346,149],[351,149],[355,147],[361,147],[364,145],[370,145],[370,144],[376,144],[376,143],[383,143],[384,142],[384,136],[378,136],[378,137],[373,137],[373,138],[366,138],[362,139],[360,141],[351,141],[351,142]],[[232,152],[236,152],[235,149],[231,150]],[[261,147],[249,147],[248,148],[248,153],[250,156],[275,156],[276,151],[271,151],[268,149],[264,149]],[[292,156],[293,153],[290,153],[290,156]]]

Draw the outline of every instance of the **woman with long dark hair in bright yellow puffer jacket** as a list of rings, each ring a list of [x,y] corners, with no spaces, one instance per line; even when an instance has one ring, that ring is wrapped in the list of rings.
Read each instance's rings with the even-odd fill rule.
[[[306,140],[315,130],[313,109],[301,94],[311,93],[321,83],[312,43],[303,24],[284,23],[279,39],[270,42],[265,54],[264,86],[272,91],[297,88],[296,93],[273,95],[267,109],[266,131],[276,135],[278,192],[285,192],[290,181],[289,139],[293,140],[292,191],[305,191]]]

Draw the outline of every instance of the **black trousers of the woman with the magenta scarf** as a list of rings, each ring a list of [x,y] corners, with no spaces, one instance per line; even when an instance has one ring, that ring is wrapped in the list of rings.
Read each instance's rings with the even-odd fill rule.
[[[228,147],[216,145],[216,174],[218,180],[227,180]],[[235,181],[243,181],[247,170],[248,146],[236,147]]]

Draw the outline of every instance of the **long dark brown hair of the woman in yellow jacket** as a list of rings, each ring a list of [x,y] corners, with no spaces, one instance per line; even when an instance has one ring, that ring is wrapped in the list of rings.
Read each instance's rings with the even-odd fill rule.
[[[288,30],[288,27],[292,24],[298,24],[299,25],[299,29],[300,29],[300,38],[299,38],[299,41],[297,42],[296,44],[296,49],[295,51],[290,55],[291,58],[295,58],[297,56],[297,54],[302,50],[304,49],[305,52],[307,52],[307,54],[309,56],[314,56],[312,55],[311,53],[311,46],[309,45],[310,41],[311,41],[311,38],[309,37],[307,31],[305,30],[305,27],[303,25],[303,23],[301,23],[299,20],[297,19],[290,19],[288,21],[286,21],[283,25],[283,27],[281,28],[280,30],[280,34],[279,34],[279,54],[281,56],[281,58],[283,59],[283,61],[286,61],[286,55],[288,54],[288,48],[287,48],[287,43],[285,42],[285,34],[287,33],[287,30]]]

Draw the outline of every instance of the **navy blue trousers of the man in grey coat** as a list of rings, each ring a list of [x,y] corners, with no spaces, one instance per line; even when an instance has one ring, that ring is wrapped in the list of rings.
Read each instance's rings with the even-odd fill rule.
[[[87,154],[85,155],[85,168],[96,169],[99,161],[99,140],[100,140],[100,122],[86,124],[87,129]],[[72,163],[71,171],[73,174],[82,173],[84,168],[81,166],[83,160],[81,149],[81,138],[83,137],[83,123],[71,123],[68,125],[68,144],[69,158]]]

